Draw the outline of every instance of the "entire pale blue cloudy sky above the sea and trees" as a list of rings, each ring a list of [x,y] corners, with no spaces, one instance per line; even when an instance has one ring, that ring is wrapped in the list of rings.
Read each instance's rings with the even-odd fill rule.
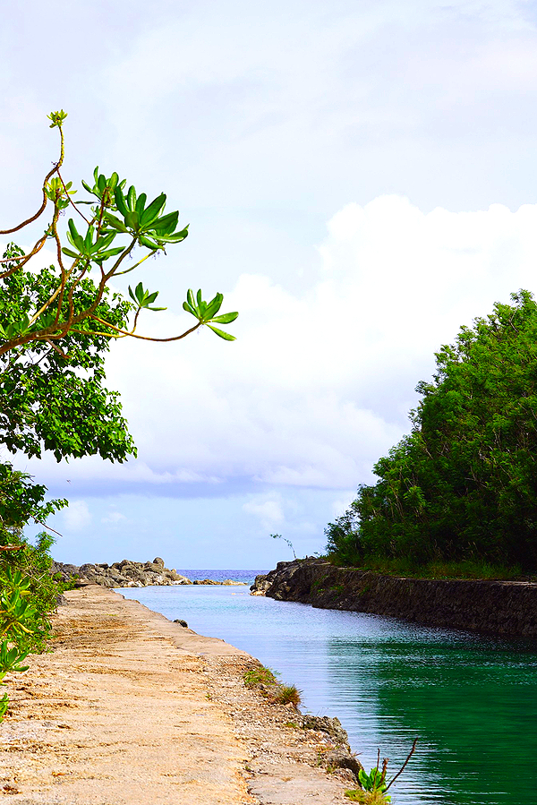
[[[71,501],[55,558],[269,569],[292,558],[275,533],[322,552],[435,351],[537,288],[537,3],[4,0],[3,18],[0,226],[38,206],[64,108],[65,177],[115,170],[190,224],[136,277],[167,306],[139,332],[185,329],[188,287],[240,312],[233,343],[113,345],[138,458],[15,458]]]

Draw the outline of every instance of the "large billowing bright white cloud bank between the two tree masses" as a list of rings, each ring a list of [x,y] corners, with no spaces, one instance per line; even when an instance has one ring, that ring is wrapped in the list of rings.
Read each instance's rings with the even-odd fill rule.
[[[535,287],[536,228],[537,205],[425,214],[394,195],[347,205],[302,292],[238,279],[225,301],[240,311],[233,344],[204,330],[178,344],[114,345],[109,384],[122,391],[140,458],[74,461],[72,483],[98,475],[111,489],[192,484],[199,493],[244,479],[345,491],[368,481],[408,430],[434,351],[495,301]],[[144,331],[169,335],[185,318],[161,313]]]

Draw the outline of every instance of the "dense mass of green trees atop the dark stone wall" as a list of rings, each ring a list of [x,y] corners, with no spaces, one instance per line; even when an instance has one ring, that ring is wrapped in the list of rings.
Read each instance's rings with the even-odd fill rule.
[[[537,304],[527,291],[512,301],[440,349],[412,432],[327,527],[336,561],[537,569]]]

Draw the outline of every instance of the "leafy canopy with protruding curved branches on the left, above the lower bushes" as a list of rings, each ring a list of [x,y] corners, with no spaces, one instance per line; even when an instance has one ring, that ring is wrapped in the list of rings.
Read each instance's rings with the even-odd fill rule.
[[[192,327],[170,338],[137,331],[142,311],[165,310],[154,304],[158,291],[140,281],[124,297],[109,285],[181,243],[188,227],[178,227],[176,210],[165,213],[165,193],[148,201],[133,185],[127,190],[116,173],[107,177],[98,168],[92,182],[82,182],[89,198],[73,201],[76,191],[61,172],[65,117],[63,110],[49,116],[60,134],[60,155],[43,181],[38,211],[0,231],[12,235],[51,210],[33,247],[23,252],[11,244],[0,261],[0,442],[28,456],[52,450],[58,461],[90,454],[123,461],[135,450],[117,394],[103,386],[110,342],[174,341],[202,325],[234,340],[219,325],[238,313],[219,313],[219,293],[205,302],[201,291],[194,296],[189,290],[183,309],[196,319]],[[68,212],[73,217],[62,227]],[[47,243],[55,249],[56,264],[32,270],[31,258]]]

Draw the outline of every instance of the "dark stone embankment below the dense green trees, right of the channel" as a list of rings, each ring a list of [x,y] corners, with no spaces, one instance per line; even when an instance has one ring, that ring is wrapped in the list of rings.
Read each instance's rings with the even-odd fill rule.
[[[276,569],[256,577],[251,591],[321,609],[537,638],[537,584],[532,582],[396,578],[306,557],[278,562]]]

